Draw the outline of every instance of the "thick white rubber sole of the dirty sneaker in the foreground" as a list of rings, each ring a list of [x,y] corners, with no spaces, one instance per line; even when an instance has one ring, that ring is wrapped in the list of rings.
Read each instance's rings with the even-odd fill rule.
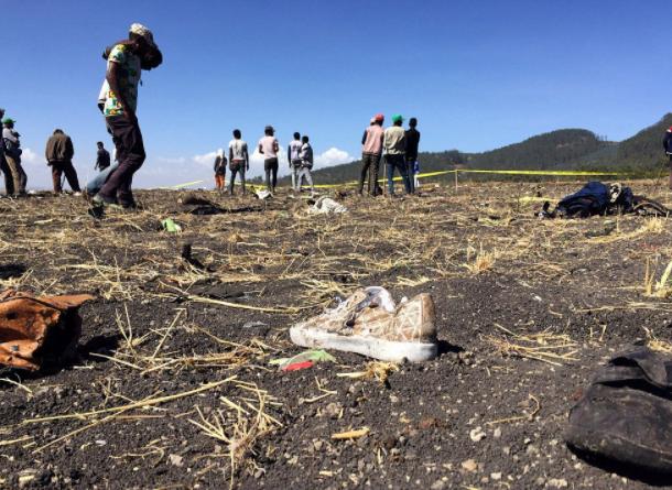
[[[343,336],[323,330],[290,328],[290,338],[302,347],[323,347],[360,353],[366,357],[389,362],[429,361],[438,356],[437,344],[399,342],[358,335]]]

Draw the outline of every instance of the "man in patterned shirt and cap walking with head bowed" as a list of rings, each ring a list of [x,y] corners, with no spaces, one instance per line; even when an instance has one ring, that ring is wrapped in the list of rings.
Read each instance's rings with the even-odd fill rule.
[[[136,116],[138,84],[143,59],[149,57],[162,59],[162,56],[154,56],[155,53],[160,51],[154,43],[152,32],[144,25],[132,24],[129,39],[115,44],[107,56],[106,80],[109,84],[109,91],[105,99],[104,115],[117,148],[119,166],[93,199],[96,210],[91,214],[95,216],[99,216],[102,208],[109,205],[136,207],[131,192],[133,174],[142,166],[147,156]]]

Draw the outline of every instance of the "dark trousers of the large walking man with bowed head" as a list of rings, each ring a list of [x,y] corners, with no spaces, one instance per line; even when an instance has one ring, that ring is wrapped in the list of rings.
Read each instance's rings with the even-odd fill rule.
[[[98,195],[108,203],[115,199],[121,206],[134,204],[131,184],[133,174],[142,166],[144,159],[144,143],[138,122],[131,122],[126,116],[111,116],[106,118],[112,132],[112,141],[117,148],[119,166],[105,183]]]

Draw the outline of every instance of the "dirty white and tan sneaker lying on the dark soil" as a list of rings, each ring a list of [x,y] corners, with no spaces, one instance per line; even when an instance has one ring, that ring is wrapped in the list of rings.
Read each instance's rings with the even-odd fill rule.
[[[303,347],[357,352],[383,361],[420,362],[438,353],[434,302],[430,294],[394,305],[382,287],[356,291],[335,309],[290,329]]]

